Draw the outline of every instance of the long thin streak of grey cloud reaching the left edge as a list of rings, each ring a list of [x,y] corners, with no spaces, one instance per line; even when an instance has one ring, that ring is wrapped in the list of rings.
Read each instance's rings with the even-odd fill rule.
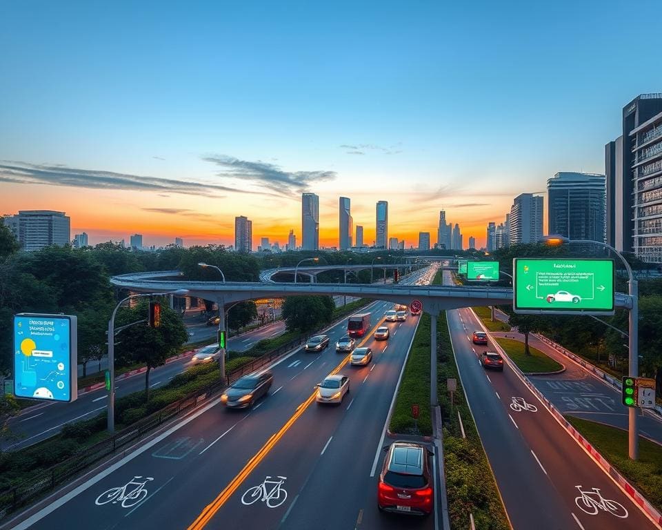
[[[0,181],[14,184],[47,184],[106,190],[133,190],[183,193],[185,195],[215,195],[215,192],[254,193],[231,186],[177,179],[143,177],[112,171],[70,168],[62,165],[28,164],[0,161]]]

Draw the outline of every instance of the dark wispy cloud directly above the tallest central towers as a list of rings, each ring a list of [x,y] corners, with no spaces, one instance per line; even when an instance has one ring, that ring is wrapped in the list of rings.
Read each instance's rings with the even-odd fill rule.
[[[335,171],[285,171],[268,162],[240,160],[225,155],[202,157],[204,161],[219,166],[217,175],[223,179],[236,179],[250,182],[278,195],[289,196],[302,193],[311,184],[334,180]]]

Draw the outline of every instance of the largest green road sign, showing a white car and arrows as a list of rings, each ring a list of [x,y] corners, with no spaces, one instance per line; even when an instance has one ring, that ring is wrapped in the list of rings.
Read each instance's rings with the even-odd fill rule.
[[[515,313],[614,314],[611,259],[516,257],[512,269]]]

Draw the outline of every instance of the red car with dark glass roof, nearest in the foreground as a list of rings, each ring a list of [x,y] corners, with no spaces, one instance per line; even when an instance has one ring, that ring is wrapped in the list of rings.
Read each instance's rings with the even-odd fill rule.
[[[386,458],[377,484],[382,511],[429,516],[434,510],[430,455],[421,444],[397,441],[384,448]]]

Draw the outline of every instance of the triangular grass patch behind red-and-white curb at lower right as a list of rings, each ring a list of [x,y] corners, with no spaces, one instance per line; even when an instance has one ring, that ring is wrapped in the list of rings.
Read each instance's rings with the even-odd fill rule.
[[[662,445],[640,436],[639,460],[633,461],[628,456],[628,431],[572,415],[565,419],[662,511]]]

